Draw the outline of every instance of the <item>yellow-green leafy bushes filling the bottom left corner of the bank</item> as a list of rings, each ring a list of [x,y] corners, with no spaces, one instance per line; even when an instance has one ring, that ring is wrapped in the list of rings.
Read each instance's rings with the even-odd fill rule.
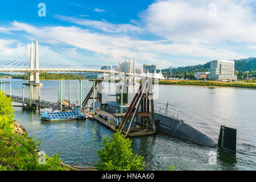
[[[0,171],[2,170],[67,170],[61,166],[59,155],[46,155],[46,164],[39,164],[40,140],[26,133],[14,132],[14,110],[10,98],[0,93]]]

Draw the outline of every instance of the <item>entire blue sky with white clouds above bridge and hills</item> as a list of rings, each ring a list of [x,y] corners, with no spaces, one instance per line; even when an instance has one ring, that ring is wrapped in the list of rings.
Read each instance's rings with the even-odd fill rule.
[[[39,3],[46,16],[39,17]],[[158,68],[255,57],[253,0],[1,1],[0,51],[38,40],[85,65]]]

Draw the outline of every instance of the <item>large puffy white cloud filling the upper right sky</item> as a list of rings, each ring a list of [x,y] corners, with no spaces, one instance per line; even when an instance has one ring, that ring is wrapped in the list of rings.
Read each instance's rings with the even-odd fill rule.
[[[209,16],[210,3],[216,4],[216,16]],[[253,0],[156,1],[140,18],[148,31],[176,42],[255,43],[253,5]]]

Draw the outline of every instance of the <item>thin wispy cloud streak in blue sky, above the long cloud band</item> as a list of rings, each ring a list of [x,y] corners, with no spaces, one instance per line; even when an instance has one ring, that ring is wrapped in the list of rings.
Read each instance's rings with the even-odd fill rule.
[[[101,21],[97,20],[89,20],[89,19],[81,19],[81,18],[73,18],[69,16],[61,16],[61,15],[55,15],[56,18],[59,18],[61,20],[80,24],[82,26],[86,27],[93,27],[97,30],[101,30],[104,32],[110,32],[110,33],[117,33],[117,32],[131,32],[131,31],[137,31],[142,32],[142,28],[134,26],[132,24],[115,24],[115,23],[109,23],[106,20],[102,19]]]

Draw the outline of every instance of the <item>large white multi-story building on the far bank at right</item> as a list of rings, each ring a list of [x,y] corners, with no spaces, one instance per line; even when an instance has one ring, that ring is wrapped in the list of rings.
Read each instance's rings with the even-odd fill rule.
[[[210,62],[209,80],[237,80],[234,75],[234,61],[214,60]]]

